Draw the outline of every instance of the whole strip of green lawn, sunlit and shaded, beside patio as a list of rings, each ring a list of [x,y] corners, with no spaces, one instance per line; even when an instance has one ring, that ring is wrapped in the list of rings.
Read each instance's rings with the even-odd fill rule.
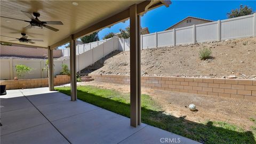
[[[70,95],[70,87],[55,87],[55,90]],[[77,98],[114,113],[130,117],[130,94],[94,86],[77,86]],[[256,128],[251,131],[226,122],[206,121],[195,123],[183,117],[163,113],[149,95],[141,95],[141,121],[160,129],[182,135],[202,143],[256,143]]]

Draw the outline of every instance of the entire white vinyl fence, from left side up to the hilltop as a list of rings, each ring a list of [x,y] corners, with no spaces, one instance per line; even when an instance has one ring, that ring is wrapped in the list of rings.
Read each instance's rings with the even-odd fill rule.
[[[256,14],[243,17],[218,20],[200,25],[159,31],[153,34],[141,35],[141,49],[153,49],[163,46],[175,46],[211,41],[223,41],[225,39],[256,36]],[[112,51],[130,51],[130,38],[109,38],[76,47],[76,71],[80,71],[94,62],[105,57]],[[62,50],[63,56],[69,56],[69,49]],[[33,68],[26,78],[45,78],[45,60],[0,60],[1,79],[13,79],[17,76],[15,65],[23,64]],[[61,65],[69,66],[69,59],[54,60],[54,75],[60,73]]]

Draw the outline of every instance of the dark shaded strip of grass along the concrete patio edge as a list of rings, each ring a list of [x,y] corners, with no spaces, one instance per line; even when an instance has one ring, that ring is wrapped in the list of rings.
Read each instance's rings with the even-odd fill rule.
[[[70,90],[59,91],[70,95]],[[130,117],[130,104],[103,98],[101,95],[81,90],[77,90],[77,97],[92,105]],[[174,117],[163,112],[142,106],[141,121],[201,143],[256,143],[252,131],[243,131],[234,125],[223,122],[208,121],[205,124],[196,123],[186,120],[186,116]],[[223,127],[227,127],[227,129]]]

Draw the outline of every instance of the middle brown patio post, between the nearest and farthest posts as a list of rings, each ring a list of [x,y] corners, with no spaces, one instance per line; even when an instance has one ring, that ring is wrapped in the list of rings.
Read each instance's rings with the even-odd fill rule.
[[[70,93],[71,101],[76,101],[77,91],[76,91],[76,40],[74,35],[71,35],[70,39]]]

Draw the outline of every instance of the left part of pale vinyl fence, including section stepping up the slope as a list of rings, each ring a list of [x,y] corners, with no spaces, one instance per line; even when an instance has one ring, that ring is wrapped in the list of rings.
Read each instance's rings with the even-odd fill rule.
[[[86,49],[85,52],[81,52],[81,49],[79,50],[79,54],[77,52],[76,55],[76,70],[80,71],[90,65],[92,65],[94,62],[100,60],[101,58],[105,57],[107,54],[109,54],[112,51],[115,51],[118,49],[118,38],[113,37],[108,39],[107,41],[103,42],[97,42],[91,43],[92,49]],[[79,46],[77,47],[79,49]],[[68,52],[69,53],[69,52]],[[45,67],[45,60],[18,60],[18,59],[1,59],[0,60],[0,78],[3,79],[13,79],[15,76],[17,76],[17,73],[15,72],[15,66],[16,65],[26,65],[30,68],[33,68],[33,70],[30,73],[25,74],[22,79],[30,79],[30,78],[46,78],[47,77],[47,71],[42,71],[42,69]],[[69,65],[69,59],[67,60],[53,60],[54,64],[54,75],[60,74],[62,64]]]

